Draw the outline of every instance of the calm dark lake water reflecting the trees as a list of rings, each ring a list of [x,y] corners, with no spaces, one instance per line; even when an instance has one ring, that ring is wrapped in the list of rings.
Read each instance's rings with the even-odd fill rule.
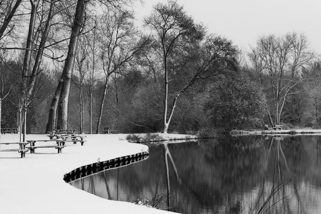
[[[132,203],[166,195],[162,208],[178,213],[321,213],[320,153],[321,136],[228,135],[153,146],[71,185]]]

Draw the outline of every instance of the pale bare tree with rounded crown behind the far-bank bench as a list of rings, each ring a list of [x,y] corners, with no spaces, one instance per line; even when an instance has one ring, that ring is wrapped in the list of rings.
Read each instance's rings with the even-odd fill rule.
[[[294,87],[304,80],[302,69],[315,55],[309,45],[304,34],[269,35],[259,38],[248,53],[261,85],[264,85],[261,77],[269,76],[265,90],[273,96],[274,124],[280,124],[287,96],[296,93]]]

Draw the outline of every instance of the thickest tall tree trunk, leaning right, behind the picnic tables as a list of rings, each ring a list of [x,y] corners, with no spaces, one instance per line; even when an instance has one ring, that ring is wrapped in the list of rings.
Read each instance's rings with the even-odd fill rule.
[[[76,56],[76,49],[78,45],[79,32],[82,27],[82,20],[86,10],[87,0],[78,0],[76,11],[74,15],[73,27],[71,30],[71,37],[68,46],[68,54],[65,60],[65,66],[62,73],[63,82],[61,86],[61,93],[58,101],[57,110],[57,128],[68,128],[68,101],[71,86],[71,77],[74,70],[74,61]]]

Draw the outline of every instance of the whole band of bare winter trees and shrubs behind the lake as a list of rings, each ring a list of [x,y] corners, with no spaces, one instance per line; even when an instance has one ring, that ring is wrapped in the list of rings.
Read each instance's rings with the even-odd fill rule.
[[[0,1],[1,127],[319,127],[321,62],[304,34],[261,36],[246,52],[172,0],[138,26],[134,3]]]

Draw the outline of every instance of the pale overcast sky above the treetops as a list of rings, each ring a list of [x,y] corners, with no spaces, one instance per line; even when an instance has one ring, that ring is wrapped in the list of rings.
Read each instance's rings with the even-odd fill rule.
[[[152,5],[166,0],[136,3],[136,17],[149,15]],[[303,32],[311,47],[321,53],[321,3],[317,0],[178,0],[197,22],[231,39],[239,47],[249,49],[261,35],[281,35],[289,31]]]

